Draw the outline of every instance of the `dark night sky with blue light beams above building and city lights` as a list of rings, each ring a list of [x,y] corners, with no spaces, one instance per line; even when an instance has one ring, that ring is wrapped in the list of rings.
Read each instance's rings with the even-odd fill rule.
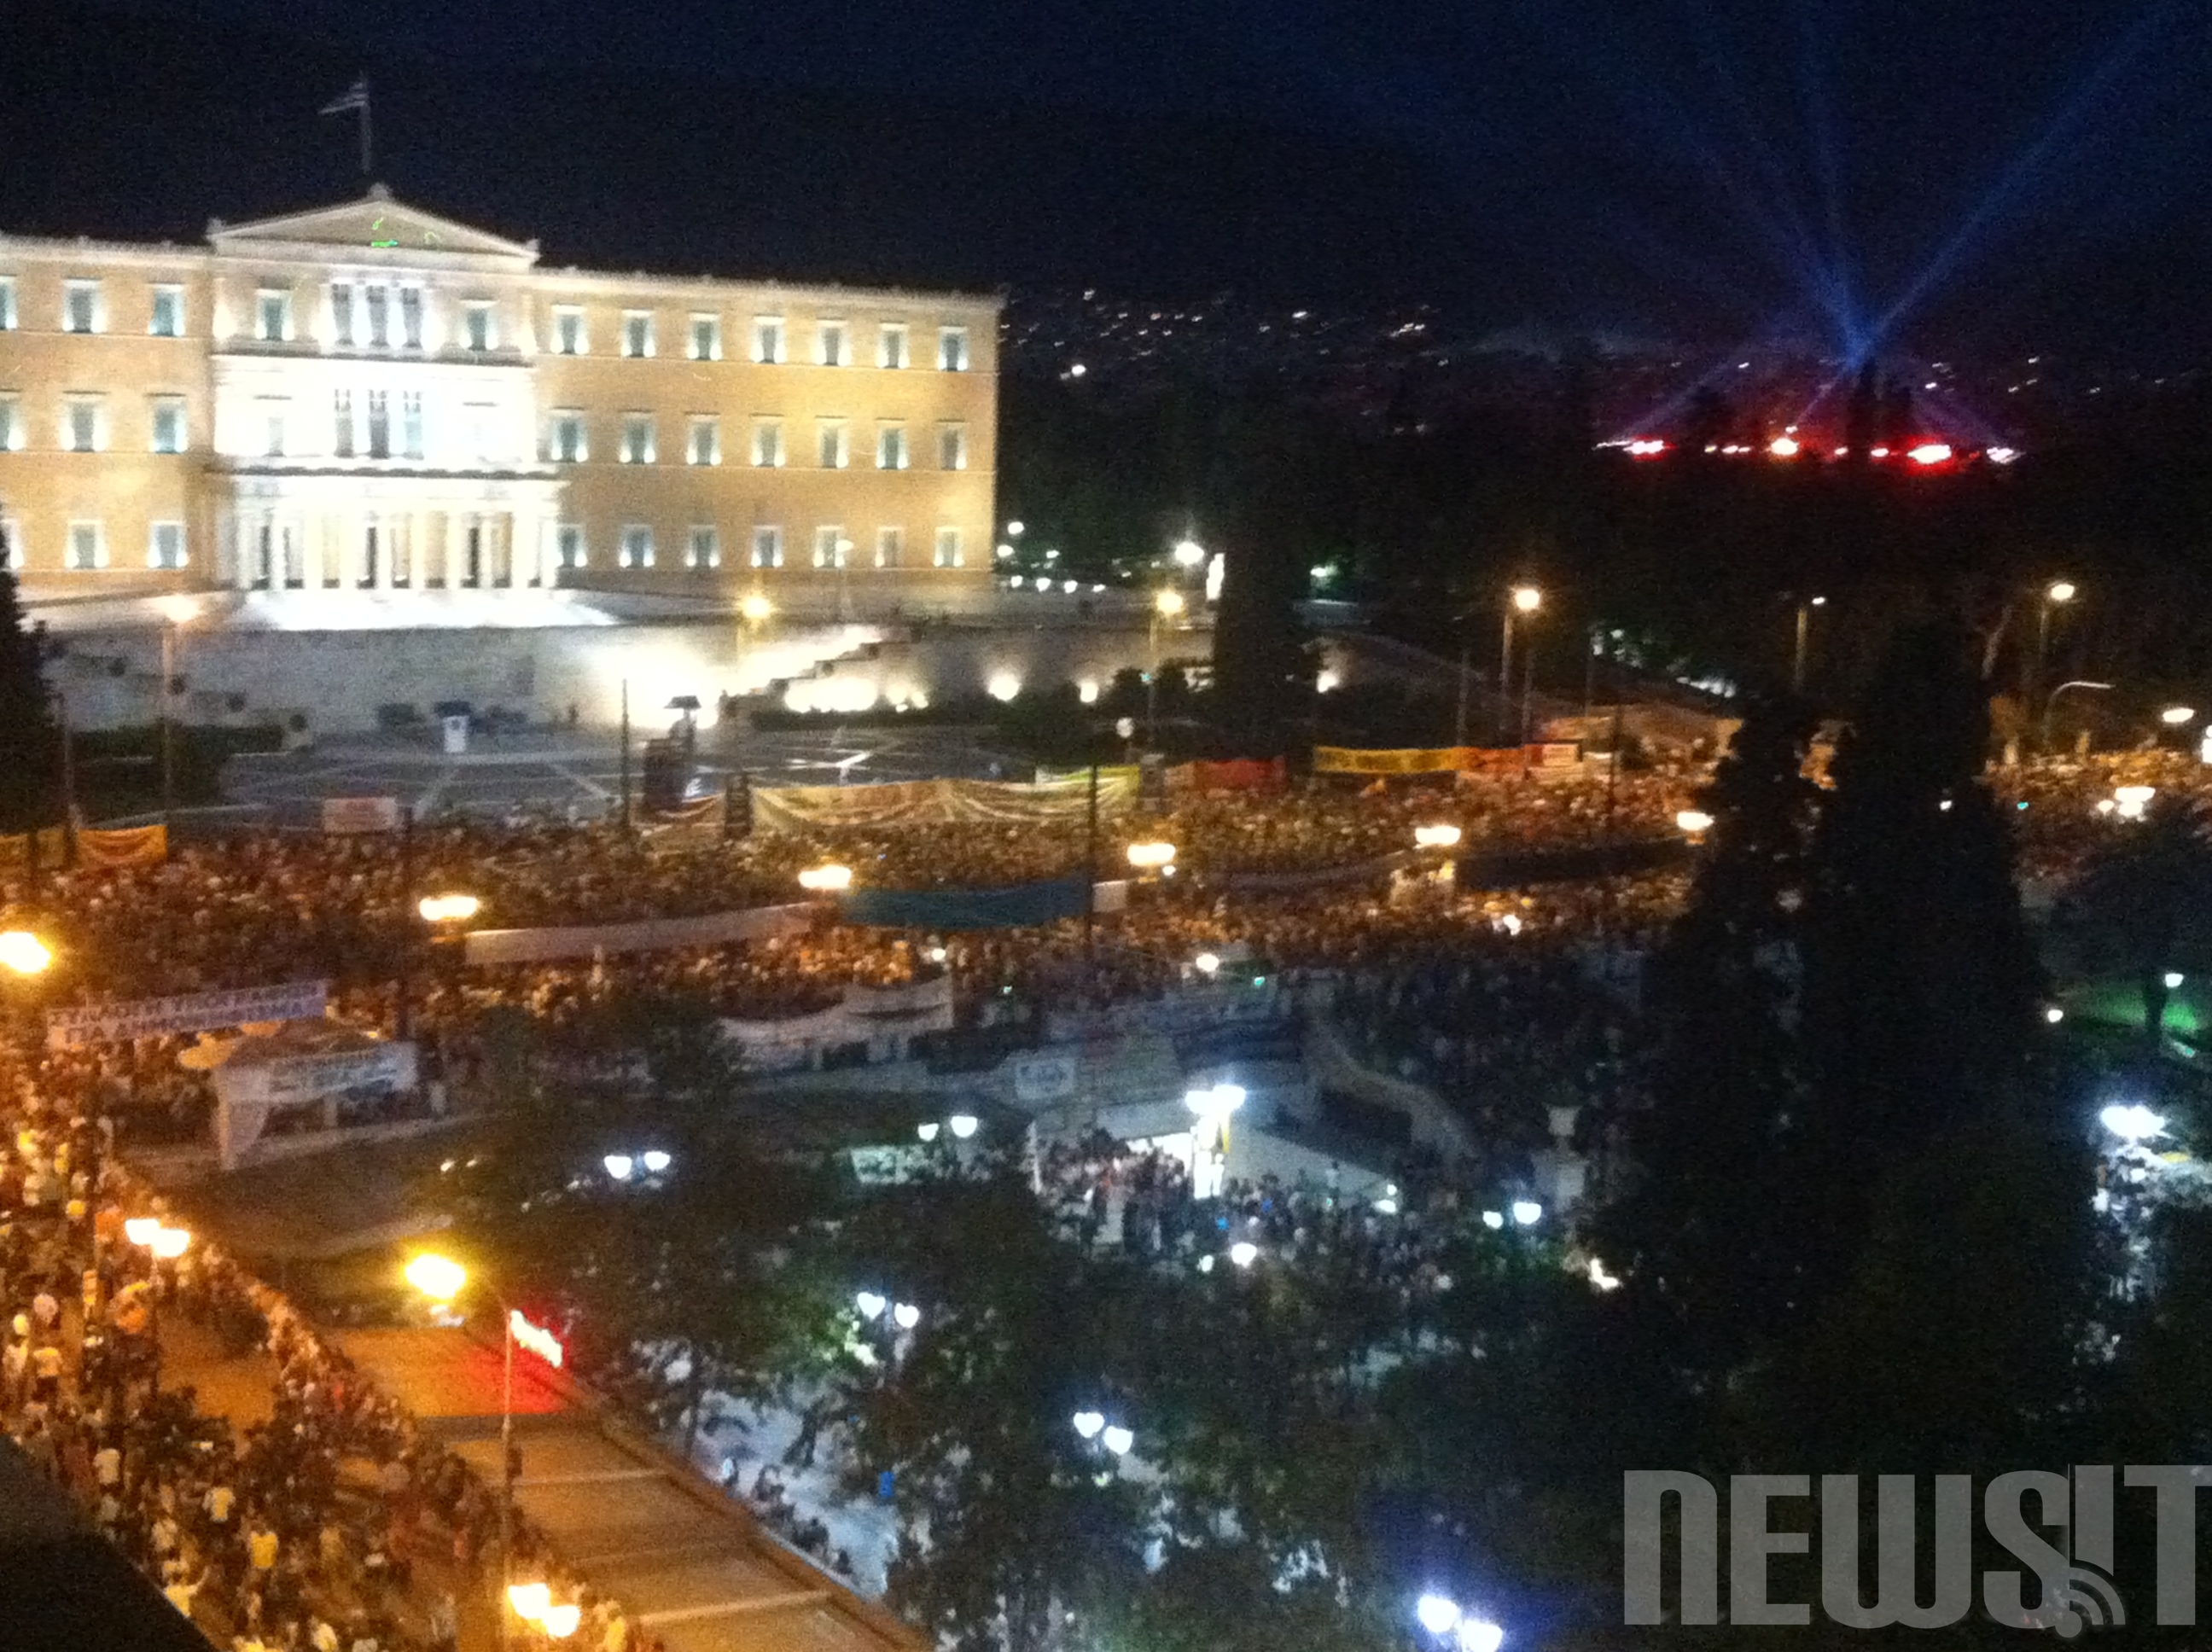
[[[0,223],[378,172],[549,259],[2208,349],[2212,7],[0,0]]]

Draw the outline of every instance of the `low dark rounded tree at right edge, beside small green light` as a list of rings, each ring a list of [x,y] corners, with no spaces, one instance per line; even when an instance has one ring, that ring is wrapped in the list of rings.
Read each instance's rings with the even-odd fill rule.
[[[2143,1002],[2143,1053],[2166,1037],[2166,977],[2212,966],[2212,814],[2163,796],[2081,871],[2059,907],[2079,962],[2126,971]]]

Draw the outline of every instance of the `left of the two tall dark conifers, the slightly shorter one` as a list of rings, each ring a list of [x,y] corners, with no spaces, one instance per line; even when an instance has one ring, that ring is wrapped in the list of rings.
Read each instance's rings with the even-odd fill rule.
[[[1652,1106],[1630,1121],[1628,1192],[1597,1245],[1659,1314],[1681,1367],[1719,1376],[1774,1336],[1798,1296],[1796,1179],[1805,1059],[1798,924],[1818,787],[1814,717],[1745,708],[1701,807],[1712,816],[1690,905],[1650,962]]]

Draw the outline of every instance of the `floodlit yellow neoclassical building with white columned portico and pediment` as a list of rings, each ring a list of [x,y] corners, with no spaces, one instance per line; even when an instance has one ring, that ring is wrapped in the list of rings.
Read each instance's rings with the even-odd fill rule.
[[[0,234],[0,524],[33,602],[960,606],[998,307],[549,270],[383,188],[197,248]]]

